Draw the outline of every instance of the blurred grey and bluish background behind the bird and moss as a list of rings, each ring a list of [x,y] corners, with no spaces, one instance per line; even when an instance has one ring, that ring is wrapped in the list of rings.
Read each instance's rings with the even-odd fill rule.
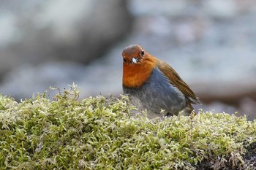
[[[75,82],[80,98],[118,96],[132,44],[173,66],[197,109],[256,117],[254,0],[1,0],[0,93]]]

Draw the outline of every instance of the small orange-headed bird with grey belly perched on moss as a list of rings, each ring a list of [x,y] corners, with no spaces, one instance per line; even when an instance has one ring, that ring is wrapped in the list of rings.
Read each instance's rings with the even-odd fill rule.
[[[190,115],[191,104],[200,104],[195,93],[165,61],[155,58],[140,45],[129,45],[122,53],[123,91],[148,117]]]

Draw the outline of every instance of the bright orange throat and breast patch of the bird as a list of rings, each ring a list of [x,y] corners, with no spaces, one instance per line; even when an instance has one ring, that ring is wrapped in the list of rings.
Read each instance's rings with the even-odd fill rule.
[[[126,88],[140,88],[148,80],[157,65],[157,58],[146,57],[140,63],[123,64],[123,85]]]

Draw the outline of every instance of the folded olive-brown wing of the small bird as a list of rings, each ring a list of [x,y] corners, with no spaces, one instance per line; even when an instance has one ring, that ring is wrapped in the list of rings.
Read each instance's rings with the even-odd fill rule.
[[[187,98],[189,98],[189,101],[191,101],[192,104],[201,104],[197,96],[195,96],[195,93],[171,66],[165,63],[165,61],[161,60],[159,60],[158,63],[158,69],[165,74],[172,85],[176,86],[178,90],[181,90],[181,92],[184,93]]]

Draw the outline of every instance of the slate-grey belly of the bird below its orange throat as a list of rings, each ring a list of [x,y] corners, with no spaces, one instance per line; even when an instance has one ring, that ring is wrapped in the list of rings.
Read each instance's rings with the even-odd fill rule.
[[[151,77],[144,82],[142,87],[123,87],[123,90],[135,106],[155,114],[165,109],[165,115],[176,115],[186,106],[184,94],[171,85],[159,69],[153,70]]]

